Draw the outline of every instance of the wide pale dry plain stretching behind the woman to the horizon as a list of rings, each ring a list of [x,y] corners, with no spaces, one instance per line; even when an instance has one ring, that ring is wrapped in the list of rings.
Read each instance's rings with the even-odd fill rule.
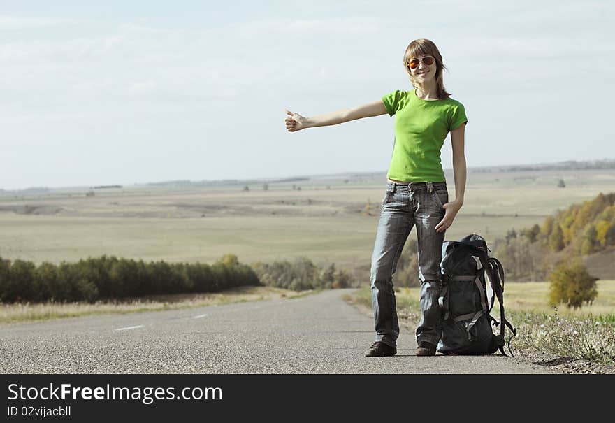
[[[55,189],[0,196],[0,257],[76,261],[102,254],[243,263],[305,256],[317,264],[369,266],[384,175],[215,187]],[[565,188],[557,188],[563,178]],[[447,174],[454,199],[454,178]],[[472,232],[488,242],[560,208],[609,192],[606,171],[468,173],[465,203],[447,239]],[[301,187],[293,189],[292,185]],[[416,237],[415,231],[410,234]]]

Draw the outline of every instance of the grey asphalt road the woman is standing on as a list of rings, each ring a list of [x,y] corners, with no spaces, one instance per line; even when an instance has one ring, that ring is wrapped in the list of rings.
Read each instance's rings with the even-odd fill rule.
[[[0,325],[0,373],[550,373],[512,357],[364,357],[372,318],[332,290],[153,313]]]

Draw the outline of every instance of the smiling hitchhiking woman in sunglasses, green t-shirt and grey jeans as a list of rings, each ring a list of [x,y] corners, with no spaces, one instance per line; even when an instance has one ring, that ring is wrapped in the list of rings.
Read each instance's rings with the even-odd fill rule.
[[[407,46],[404,68],[412,91],[394,91],[357,108],[303,117],[287,110],[290,132],[389,114],[395,118],[395,144],[372,254],[371,287],[376,336],[367,357],[397,353],[399,336],[393,273],[410,230],[417,227],[421,321],[417,355],[434,355],[442,320],[437,298],[442,288],[440,261],[444,231],[463,205],[465,191],[463,105],[444,89],[442,55],[432,41],[418,39]],[[444,139],[451,133],[455,201],[449,202],[440,162]]]

